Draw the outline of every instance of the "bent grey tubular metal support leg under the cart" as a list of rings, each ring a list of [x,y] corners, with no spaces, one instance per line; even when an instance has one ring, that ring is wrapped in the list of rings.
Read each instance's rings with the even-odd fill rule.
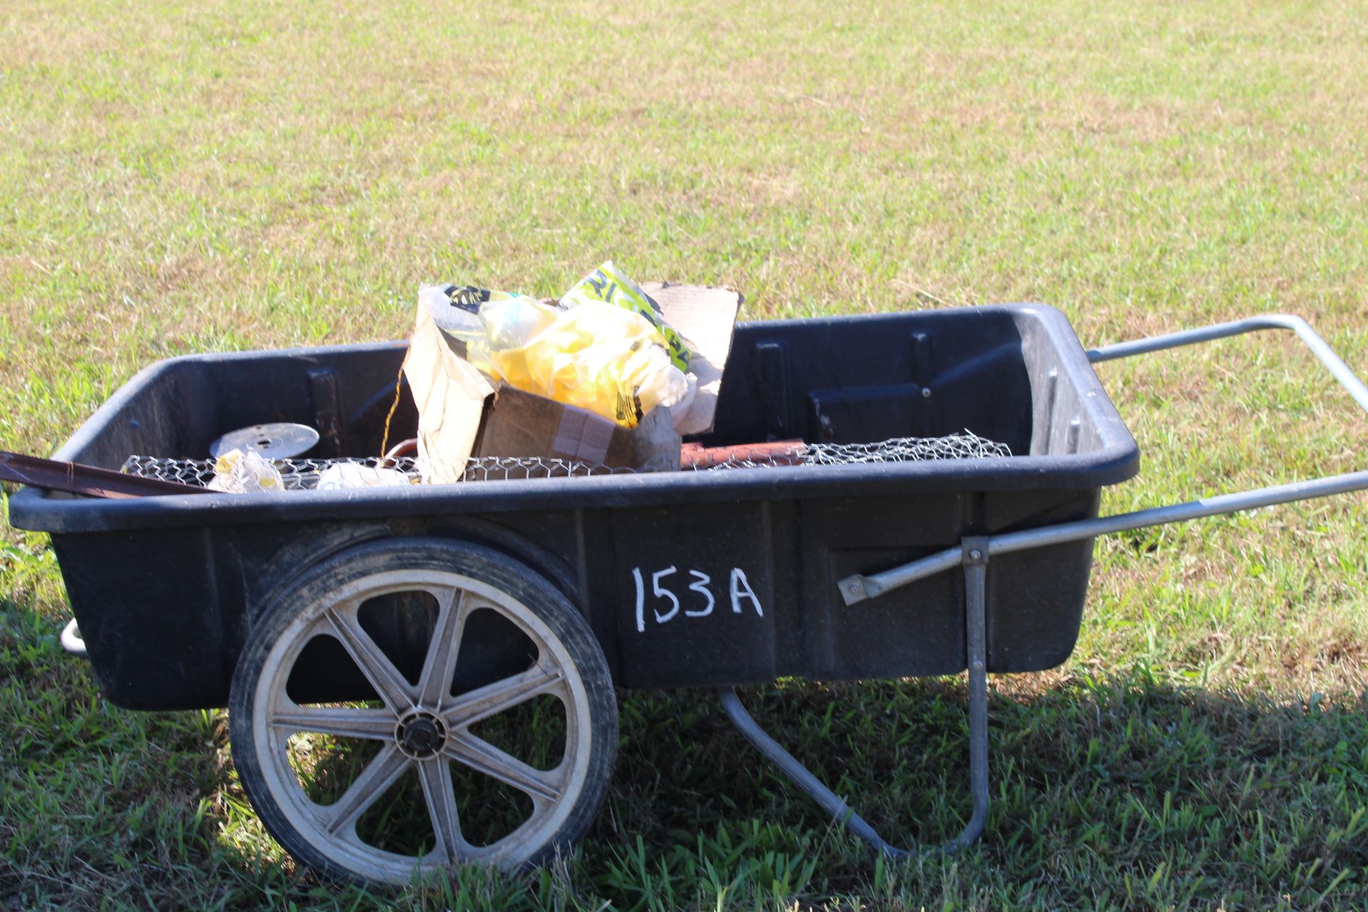
[[[988,621],[985,617],[988,539],[964,539],[963,555],[964,659],[969,666],[969,781],[974,799],[974,812],[958,837],[938,846],[928,846],[922,852],[958,852],[978,838],[988,820]],[[722,708],[732,719],[732,725],[755,749],[769,757],[793,785],[822,805],[834,819],[844,823],[851,833],[889,857],[906,859],[917,855],[917,850],[900,849],[886,842],[840,796],[795,760],[793,755],[785,751],[778,741],[766,734],[765,729],[741,706],[736,690],[722,690]]]

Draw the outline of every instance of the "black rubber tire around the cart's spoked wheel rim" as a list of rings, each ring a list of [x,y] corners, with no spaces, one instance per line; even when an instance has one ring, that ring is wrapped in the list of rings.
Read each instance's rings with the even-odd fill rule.
[[[384,539],[349,548],[311,567],[263,606],[238,658],[228,699],[234,766],[261,823],[297,861],[313,871],[342,881],[375,882],[365,872],[342,867],[316,850],[278,807],[259,762],[252,706],[265,656],[291,621],[347,582],[397,569],[456,572],[494,587],[534,611],[569,652],[590,704],[588,774],[577,794],[562,799],[573,801],[573,808],[554,835],[525,860],[502,867],[532,867],[566,850],[598,812],[617,755],[617,699],[603,652],[575,606],[539,573],[502,552],[449,539]]]

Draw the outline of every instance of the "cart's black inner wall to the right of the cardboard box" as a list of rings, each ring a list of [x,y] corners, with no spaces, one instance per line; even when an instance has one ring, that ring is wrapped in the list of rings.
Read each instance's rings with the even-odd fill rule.
[[[1101,448],[1079,384],[1060,381],[1079,366],[1077,340],[1052,338],[1057,327],[1030,310],[969,313],[743,324],[703,442],[873,443],[970,431],[1015,455]]]

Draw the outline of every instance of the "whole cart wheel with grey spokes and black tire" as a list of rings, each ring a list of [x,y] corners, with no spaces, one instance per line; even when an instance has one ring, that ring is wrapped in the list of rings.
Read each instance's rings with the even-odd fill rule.
[[[254,623],[228,707],[267,830],[347,879],[535,864],[584,833],[617,751],[607,666],[575,607],[527,566],[440,539],[308,570]]]

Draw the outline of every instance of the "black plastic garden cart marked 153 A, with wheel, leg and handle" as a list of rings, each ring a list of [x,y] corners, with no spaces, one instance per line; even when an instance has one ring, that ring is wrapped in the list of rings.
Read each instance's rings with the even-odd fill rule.
[[[967,429],[1007,444],[1010,458],[134,500],[26,489],[11,518],[52,533],[103,692],[142,710],[231,704],[253,803],[286,848],[327,872],[406,881],[450,863],[524,864],[576,838],[610,773],[614,684],[969,669],[975,812],[953,848],[977,835],[988,804],[985,675],[1070,655],[1094,535],[1368,485],[1341,476],[1238,495],[1267,495],[1257,503],[1197,502],[1182,515],[1131,514],[1130,525],[1097,518],[1101,487],[1133,476],[1140,458],[1090,360],[1270,325],[1324,347],[1279,317],[1089,353],[1042,305],[739,324],[717,423],[700,439],[865,443]],[[57,458],[198,458],[224,431],[265,421],[319,428],[323,457],[371,455],[404,350],[163,361]],[[1343,362],[1316,354],[1368,407]],[[415,424],[405,398],[394,427]],[[538,695],[566,712],[557,766],[534,768],[472,734]],[[802,788],[896,852],[755,730],[735,696],[726,708]],[[280,759],[291,732],[383,747],[321,807]],[[527,820],[476,844],[449,762],[529,796]],[[431,838],[408,855],[378,849],[357,819],[409,768]]]

